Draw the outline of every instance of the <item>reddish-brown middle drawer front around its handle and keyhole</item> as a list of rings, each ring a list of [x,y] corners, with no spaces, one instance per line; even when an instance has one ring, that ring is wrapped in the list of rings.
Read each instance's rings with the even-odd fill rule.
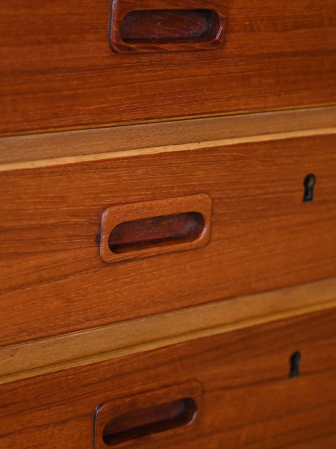
[[[312,136],[2,172],[1,346],[336,276],[335,147]],[[198,193],[212,199],[207,246],[99,260],[105,207]]]

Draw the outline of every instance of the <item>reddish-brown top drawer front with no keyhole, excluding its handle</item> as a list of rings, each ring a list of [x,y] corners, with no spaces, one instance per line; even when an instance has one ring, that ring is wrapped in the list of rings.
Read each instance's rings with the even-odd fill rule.
[[[219,49],[131,55],[109,3],[1,3],[1,133],[336,102],[334,0],[229,1]]]

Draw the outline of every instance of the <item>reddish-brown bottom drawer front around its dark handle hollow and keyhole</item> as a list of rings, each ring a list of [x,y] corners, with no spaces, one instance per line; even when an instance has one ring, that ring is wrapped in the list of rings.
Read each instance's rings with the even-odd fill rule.
[[[196,397],[194,427],[114,447],[332,449],[335,323],[332,309],[3,384],[1,448],[89,449],[98,405],[123,413],[129,401],[151,405],[155,391],[158,403]],[[300,374],[289,378],[294,351]]]

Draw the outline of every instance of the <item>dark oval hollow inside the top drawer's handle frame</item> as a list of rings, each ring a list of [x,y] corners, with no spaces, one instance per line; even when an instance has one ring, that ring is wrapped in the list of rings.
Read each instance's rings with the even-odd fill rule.
[[[220,32],[220,18],[211,9],[132,11],[120,24],[126,44],[207,42]]]

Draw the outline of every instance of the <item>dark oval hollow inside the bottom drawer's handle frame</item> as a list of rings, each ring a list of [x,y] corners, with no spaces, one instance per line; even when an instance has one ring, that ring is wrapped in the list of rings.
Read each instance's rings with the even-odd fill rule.
[[[154,435],[190,423],[196,415],[191,398],[178,399],[110,419],[103,429],[103,442],[114,446],[146,435]]]

